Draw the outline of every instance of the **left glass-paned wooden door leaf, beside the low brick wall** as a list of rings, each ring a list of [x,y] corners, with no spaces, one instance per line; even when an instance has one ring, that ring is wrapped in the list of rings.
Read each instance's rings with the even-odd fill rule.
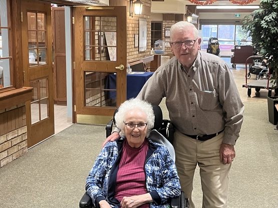
[[[28,147],[54,134],[51,4],[22,0],[24,85],[34,87],[26,114],[31,114]],[[27,119],[30,119],[27,117]]]

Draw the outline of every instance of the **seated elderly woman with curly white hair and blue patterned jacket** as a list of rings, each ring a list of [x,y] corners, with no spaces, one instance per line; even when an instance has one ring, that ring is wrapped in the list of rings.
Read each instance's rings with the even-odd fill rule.
[[[154,126],[151,104],[130,99],[115,115],[121,138],[108,142],[86,181],[95,206],[168,207],[180,183],[168,149],[148,136]]]

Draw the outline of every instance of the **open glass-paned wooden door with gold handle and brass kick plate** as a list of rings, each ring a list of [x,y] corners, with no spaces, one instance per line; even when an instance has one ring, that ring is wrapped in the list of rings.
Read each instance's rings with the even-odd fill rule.
[[[76,119],[106,124],[126,100],[126,6],[74,7],[73,16]],[[109,87],[110,73],[116,88]]]

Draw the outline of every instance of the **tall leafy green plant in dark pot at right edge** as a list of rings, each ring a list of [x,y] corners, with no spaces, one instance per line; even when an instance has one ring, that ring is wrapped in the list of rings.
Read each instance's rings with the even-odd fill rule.
[[[267,66],[273,70],[269,78],[270,86],[278,93],[278,0],[260,0],[259,9],[244,17],[243,29],[252,37],[256,51],[266,59]],[[275,108],[277,97],[267,97],[268,118],[277,124],[278,113]]]

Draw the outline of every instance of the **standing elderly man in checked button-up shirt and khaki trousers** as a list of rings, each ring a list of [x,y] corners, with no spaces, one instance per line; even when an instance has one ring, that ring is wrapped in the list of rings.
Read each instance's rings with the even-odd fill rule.
[[[196,165],[200,168],[203,207],[227,207],[228,173],[235,157],[244,106],[229,67],[218,56],[200,51],[196,27],[172,25],[174,57],[160,66],[138,98],[159,104],[166,97],[176,127],[174,147],[182,190],[190,198]],[[114,132],[109,139],[118,137]]]

